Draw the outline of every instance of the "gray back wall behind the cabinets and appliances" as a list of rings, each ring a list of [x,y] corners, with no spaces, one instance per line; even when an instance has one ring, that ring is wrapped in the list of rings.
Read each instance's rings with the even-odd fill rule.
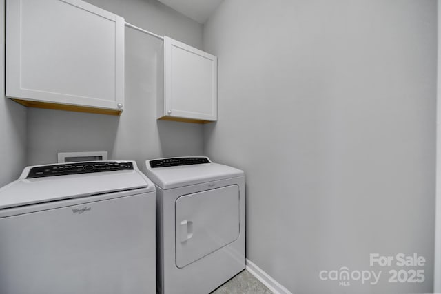
[[[156,34],[202,46],[202,25],[153,0],[89,0]],[[108,151],[112,159],[136,160],[203,153],[203,127],[156,121],[162,41],[125,28],[125,110],[121,116],[28,109],[28,164],[56,162],[57,152]]]

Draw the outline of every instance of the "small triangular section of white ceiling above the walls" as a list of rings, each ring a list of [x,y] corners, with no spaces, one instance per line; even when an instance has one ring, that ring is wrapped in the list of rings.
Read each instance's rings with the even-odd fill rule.
[[[158,0],[190,19],[204,24],[223,0]]]

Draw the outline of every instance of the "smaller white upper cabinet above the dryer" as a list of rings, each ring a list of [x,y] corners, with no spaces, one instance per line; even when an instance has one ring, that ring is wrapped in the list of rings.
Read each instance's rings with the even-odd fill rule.
[[[164,36],[164,97],[158,118],[192,123],[217,120],[217,58]]]

